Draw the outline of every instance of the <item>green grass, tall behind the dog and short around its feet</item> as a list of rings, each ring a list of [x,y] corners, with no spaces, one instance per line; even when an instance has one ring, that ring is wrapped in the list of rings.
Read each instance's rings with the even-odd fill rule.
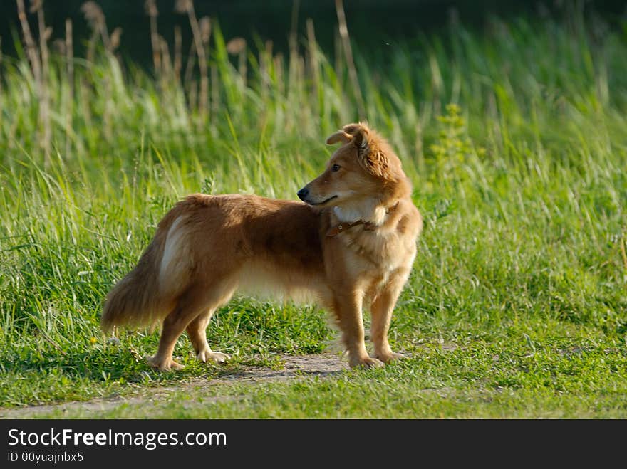
[[[353,36],[364,116],[341,56],[309,41],[282,58],[259,42],[244,84],[215,23],[210,112],[195,83],[103,47],[72,58],[71,74],[53,53],[45,81],[26,56],[2,58],[0,406],[151,396],[224,374],[197,364],[187,339],[184,371],[152,371],[143,356],[158,333],[108,342],[103,297],[177,199],[294,199],[333,150],[324,138],[366,117],[403,159],[426,221],[390,332],[410,359],[185,388],[98,416],[626,418],[627,36],[581,11],[488,26],[367,54]],[[335,337],[315,307],[247,299],[208,330],[234,356],[227,372],[281,367],[278,354]]]

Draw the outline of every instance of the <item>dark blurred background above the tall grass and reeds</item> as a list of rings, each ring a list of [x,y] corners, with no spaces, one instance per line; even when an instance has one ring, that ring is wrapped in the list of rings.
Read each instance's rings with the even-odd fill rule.
[[[73,20],[73,38],[78,56],[83,55],[84,43],[90,36],[88,24],[81,11],[83,2],[84,0],[44,2],[46,23],[53,28],[53,39],[63,38],[66,18]],[[25,0],[25,3],[28,9],[30,2]],[[125,58],[150,63],[150,23],[145,15],[144,0],[100,0],[97,3],[103,9],[109,31],[118,26],[123,29],[120,53]],[[325,51],[332,53],[337,31],[334,0],[301,0],[298,3],[299,37],[302,38],[306,31],[306,19],[311,18],[314,20],[318,43]],[[187,16],[175,13],[174,4],[175,0],[157,0],[159,32],[172,44],[174,25],[179,24],[185,47],[190,42],[189,21]],[[272,40],[275,51],[285,51],[288,48],[295,4],[292,0],[195,0],[194,4],[198,18],[211,16],[219,21],[227,41],[235,36],[251,41],[257,35],[263,40]],[[489,16],[499,16],[502,19],[525,16],[533,19],[539,15],[559,15],[569,8],[583,9],[584,14],[594,10],[608,21],[626,28],[625,0],[344,0],[349,32],[353,41],[357,41],[361,47],[437,31],[450,23],[452,14],[465,27],[481,28]],[[29,15],[29,21],[36,32],[36,16]],[[15,55],[14,41],[16,35],[19,36],[19,31],[21,28],[15,1],[0,0],[0,37],[5,55]]]

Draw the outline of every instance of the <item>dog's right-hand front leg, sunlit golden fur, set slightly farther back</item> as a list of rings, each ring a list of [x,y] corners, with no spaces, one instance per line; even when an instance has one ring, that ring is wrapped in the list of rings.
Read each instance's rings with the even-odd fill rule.
[[[388,331],[390,330],[390,320],[392,312],[403,290],[403,285],[407,280],[409,271],[398,270],[390,276],[388,284],[375,297],[371,305],[372,313],[372,340],[375,349],[375,357],[384,363],[394,359],[403,358],[403,354],[392,352],[388,343]]]

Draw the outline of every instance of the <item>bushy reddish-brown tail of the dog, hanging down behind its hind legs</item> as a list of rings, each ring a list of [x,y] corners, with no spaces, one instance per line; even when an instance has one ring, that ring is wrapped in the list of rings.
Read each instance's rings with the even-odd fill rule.
[[[180,215],[180,202],[159,223],[155,238],[142,254],[133,270],[108,293],[100,318],[100,327],[110,332],[114,326],[141,327],[155,325],[174,306],[176,291],[163,285],[160,268],[170,226]],[[170,279],[166,279],[169,281]],[[182,284],[182,278],[177,284]]]

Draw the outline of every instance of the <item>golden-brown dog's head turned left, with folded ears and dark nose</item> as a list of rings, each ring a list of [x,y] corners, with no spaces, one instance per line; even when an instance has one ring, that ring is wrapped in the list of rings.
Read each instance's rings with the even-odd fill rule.
[[[327,144],[342,146],[329,159],[326,170],[298,192],[311,205],[348,207],[365,199],[383,201],[406,176],[400,160],[385,139],[366,124],[345,125]]]

